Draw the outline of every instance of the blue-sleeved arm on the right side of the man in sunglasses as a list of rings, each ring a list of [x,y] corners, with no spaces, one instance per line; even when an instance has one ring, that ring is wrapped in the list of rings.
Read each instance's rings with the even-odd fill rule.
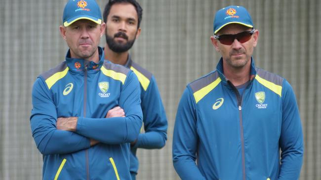
[[[279,180],[298,180],[304,154],[302,125],[294,92],[287,82],[283,90]]]

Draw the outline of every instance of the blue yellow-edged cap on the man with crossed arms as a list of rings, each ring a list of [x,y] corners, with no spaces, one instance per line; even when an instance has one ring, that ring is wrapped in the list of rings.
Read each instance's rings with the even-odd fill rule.
[[[101,24],[101,12],[95,0],[69,0],[65,6],[62,22],[65,27],[80,19]]]

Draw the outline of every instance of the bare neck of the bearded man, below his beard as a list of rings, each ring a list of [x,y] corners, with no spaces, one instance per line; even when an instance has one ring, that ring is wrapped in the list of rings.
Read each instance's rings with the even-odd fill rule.
[[[125,63],[127,62],[128,51],[123,53],[114,52],[108,47],[108,44],[106,43],[104,53],[105,59],[110,60],[115,64],[125,65]]]

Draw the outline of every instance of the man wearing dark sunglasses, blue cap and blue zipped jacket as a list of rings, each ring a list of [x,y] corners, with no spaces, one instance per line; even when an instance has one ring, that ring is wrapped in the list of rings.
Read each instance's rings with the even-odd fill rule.
[[[173,164],[182,180],[298,180],[295,95],[284,78],[255,67],[258,36],[244,7],[216,13],[210,39],[222,58],[187,85],[177,110]]]

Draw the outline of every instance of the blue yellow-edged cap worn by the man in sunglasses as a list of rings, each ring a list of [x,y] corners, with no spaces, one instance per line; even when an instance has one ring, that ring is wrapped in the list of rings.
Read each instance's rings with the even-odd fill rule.
[[[231,5],[218,10],[215,14],[213,29],[214,34],[228,24],[237,23],[253,28],[250,14],[242,6]]]

